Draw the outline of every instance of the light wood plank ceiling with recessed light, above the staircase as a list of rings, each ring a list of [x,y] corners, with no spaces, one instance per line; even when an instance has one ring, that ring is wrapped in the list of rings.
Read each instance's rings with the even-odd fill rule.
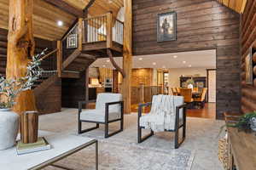
[[[90,0],[63,0],[69,5],[83,10]],[[116,16],[123,0],[96,0],[90,7],[90,16],[106,14],[112,11]],[[57,21],[63,21],[63,26],[57,26]],[[76,16],[58,8],[44,0],[34,0],[33,26],[34,36],[47,40],[58,40],[72,26]],[[9,0],[0,0],[0,28],[8,29],[9,26]]]

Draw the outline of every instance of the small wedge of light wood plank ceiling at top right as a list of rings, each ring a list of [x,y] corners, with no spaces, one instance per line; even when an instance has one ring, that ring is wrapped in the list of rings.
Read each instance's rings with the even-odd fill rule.
[[[219,3],[235,10],[237,13],[242,14],[247,4],[247,0],[218,0]]]

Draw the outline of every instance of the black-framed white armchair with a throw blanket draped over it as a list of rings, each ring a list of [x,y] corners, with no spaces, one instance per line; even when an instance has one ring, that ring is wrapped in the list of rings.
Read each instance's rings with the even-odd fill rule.
[[[164,99],[161,99],[164,98]],[[147,115],[142,115],[143,107],[152,105]],[[183,96],[155,95],[153,102],[140,104],[138,110],[138,143],[142,143],[156,132],[175,132],[175,149],[183,143],[186,137],[186,107]],[[158,112],[155,114],[155,112]],[[182,141],[178,141],[178,130],[183,127]],[[151,129],[151,133],[142,137],[142,129]]]

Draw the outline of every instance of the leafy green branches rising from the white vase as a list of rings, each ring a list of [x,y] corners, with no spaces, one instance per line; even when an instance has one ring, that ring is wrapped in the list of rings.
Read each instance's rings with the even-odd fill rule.
[[[15,105],[15,98],[20,92],[32,89],[35,81],[42,75],[43,69],[40,68],[42,56],[45,51],[41,54],[32,56],[32,60],[26,66],[26,76],[20,79],[6,79],[0,75],[0,94],[5,96],[4,102],[0,102],[0,109],[11,108]]]

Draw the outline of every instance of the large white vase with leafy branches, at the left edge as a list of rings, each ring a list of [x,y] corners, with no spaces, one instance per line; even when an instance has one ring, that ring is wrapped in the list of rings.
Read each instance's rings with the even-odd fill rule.
[[[26,69],[26,76],[20,79],[7,79],[0,75],[0,150],[8,149],[15,144],[15,139],[19,130],[19,116],[11,111],[15,105],[15,98],[22,91],[32,88],[32,85],[42,74],[40,68],[41,54],[32,57]]]

